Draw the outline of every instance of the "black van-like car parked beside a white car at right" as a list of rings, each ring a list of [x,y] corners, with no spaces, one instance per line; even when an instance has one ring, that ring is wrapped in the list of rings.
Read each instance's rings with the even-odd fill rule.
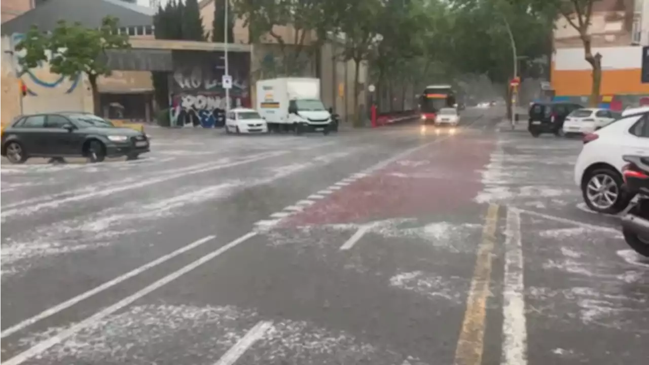
[[[528,131],[535,137],[541,133],[554,133],[559,136],[568,114],[572,110],[581,108],[583,108],[582,105],[565,101],[533,103],[530,106]]]

